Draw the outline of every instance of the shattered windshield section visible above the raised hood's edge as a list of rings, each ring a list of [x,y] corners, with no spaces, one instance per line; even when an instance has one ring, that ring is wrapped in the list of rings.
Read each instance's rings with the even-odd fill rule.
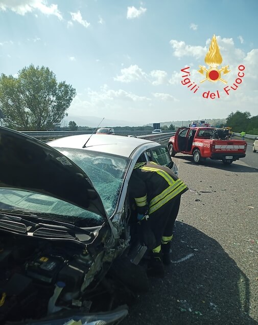
[[[130,159],[121,156],[73,148],[55,148],[76,163],[90,178],[110,217],[119,194]]]

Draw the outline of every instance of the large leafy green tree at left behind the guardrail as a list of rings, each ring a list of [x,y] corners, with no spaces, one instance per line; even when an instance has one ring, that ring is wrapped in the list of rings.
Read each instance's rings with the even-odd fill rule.
[[[67,115],[76,90],[65,81],[57,82],[46,67],[31,64],[12,75],[0,76],[0,109],[7,126],[23,130],[53,129]]]

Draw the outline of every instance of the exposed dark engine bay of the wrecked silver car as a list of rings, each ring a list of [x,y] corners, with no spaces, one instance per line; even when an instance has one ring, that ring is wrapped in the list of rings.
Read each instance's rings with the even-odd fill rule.
[[[39,319],[61,309],[88,312],[85,288],[96,286],[102,262],[103,252],[93,259],[71,242],[1,231],[0,323]]]

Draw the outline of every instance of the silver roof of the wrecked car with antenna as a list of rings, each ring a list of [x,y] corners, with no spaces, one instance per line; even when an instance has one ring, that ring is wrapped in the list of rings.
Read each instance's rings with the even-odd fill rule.
[[[91,136],[91,137],[90,137]],[[90,138],[90,139],[89,139]],[[89,139],[89,140],[88,140]],[[86,147],[83,145],[88,140]],[[118,156],[130,157],[135,149],[140,146],[154,147],[160,145],[157,142],[124,136],[112,136],[93,134],[83,134],[70,137],[64,137],[48,142],[52,147],[64,147],[75,149],[86,149],[91,151],[100,151],[102,153],[113,154]]]

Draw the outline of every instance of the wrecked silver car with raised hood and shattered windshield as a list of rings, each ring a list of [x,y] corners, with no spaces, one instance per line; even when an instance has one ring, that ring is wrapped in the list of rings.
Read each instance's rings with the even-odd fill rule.
[[[48,144],[0,127],[0,323],[118,324],[148,289],[127,186],[168,149],[122,136]]]

